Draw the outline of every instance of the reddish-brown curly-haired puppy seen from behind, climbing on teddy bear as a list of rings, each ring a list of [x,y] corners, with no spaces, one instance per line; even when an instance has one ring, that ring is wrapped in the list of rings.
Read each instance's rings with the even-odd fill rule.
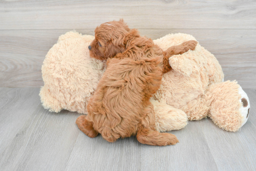
[[[89,137],[101,133],[109,142],[137,135],[143,144],[176,144],[175,135],[155,131],[149,99],[159,89],[162,73],[171,70],[168,58],[193,50],[196,44],[188,41],[163,52],[123,20],[101,24],[89,49],[91,57],[107,60],[107,69],[87,105],[88,115],[76,121],[79,129]]]

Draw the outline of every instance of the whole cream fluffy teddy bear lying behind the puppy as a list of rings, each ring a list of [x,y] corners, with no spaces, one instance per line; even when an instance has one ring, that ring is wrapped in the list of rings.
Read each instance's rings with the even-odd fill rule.
[[[94,36],[67,32],[49,50],[42,65],[44,108],[86,114],[86,105],[105,71],[105,61],[89,57]],[[154,40],[163,50],[195,38],[168,34]],[[157,131],[181,129],[187,120],[211,119],[220,128],[237,131],[248,119],[249,99],[237,82],[223,81],[217,59],[199,44],[194,51],[169,59],[172,70],[151,99]]]

